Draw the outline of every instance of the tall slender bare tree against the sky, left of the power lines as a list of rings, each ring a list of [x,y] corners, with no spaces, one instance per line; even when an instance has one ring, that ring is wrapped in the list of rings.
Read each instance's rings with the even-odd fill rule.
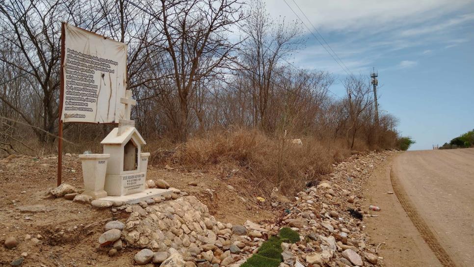
[[[253,103],[253,123],[264,131],[268,130],[268,106],[274,93],[275,73],[282,60],[290,56],[302,44],[298,37],[299,25],[288,25],[285,21],[271,19],[262,1],[250,4],[244,25],[248,35],[241,50],[241,58],[248,79]]]

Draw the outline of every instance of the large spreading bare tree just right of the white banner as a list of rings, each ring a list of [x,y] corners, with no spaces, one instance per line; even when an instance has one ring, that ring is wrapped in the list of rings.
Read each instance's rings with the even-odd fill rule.
[[[210,77],[223,79],[223,70],[233,63],[237,43],[226,34],[241,20],[241,5],[237,0],[161,0],[148,6],[164,35],[159,46],[171,74],[166,83],[173,84],[161,94],[162,102],[178,139],[185,140],[195,90]]]

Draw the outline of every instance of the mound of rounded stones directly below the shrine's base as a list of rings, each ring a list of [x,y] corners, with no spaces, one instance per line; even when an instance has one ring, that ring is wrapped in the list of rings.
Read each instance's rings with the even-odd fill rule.
[[[143,248],[136,264],[162,267],[238,267],[264,241],[261,237],[259,231],[215,220],[194,196],[134,205],[122,231],[124,243]]]

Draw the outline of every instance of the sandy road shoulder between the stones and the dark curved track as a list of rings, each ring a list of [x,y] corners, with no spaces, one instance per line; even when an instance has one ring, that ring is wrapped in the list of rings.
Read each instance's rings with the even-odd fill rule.
[[[364,218],[366,232],[372,237],[372,243],[385,242],[378,252],[387,267],[442,267],[403,210],[395,193],[387,193],[394,192],[390,172],[393,159],[397,156],[392,156],[378,166],[369,179],[364,205],[377,205],[381,211],[370,212],[377,217]]]

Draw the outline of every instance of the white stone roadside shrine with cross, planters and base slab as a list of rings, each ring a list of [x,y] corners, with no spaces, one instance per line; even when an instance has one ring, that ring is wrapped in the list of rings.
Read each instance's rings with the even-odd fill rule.
[[[136,105],[132,91],[120,98],[125,105],[125,119],[119,120],[101,144],[104,154],[79,155],[82,160],[84,194],[94,199],[119,200],[133,204],[139,201],[171,194],[171,190],[146,188],[146,173],[150,153],[142,153],[146,142],[130,120],[131,106]]]

